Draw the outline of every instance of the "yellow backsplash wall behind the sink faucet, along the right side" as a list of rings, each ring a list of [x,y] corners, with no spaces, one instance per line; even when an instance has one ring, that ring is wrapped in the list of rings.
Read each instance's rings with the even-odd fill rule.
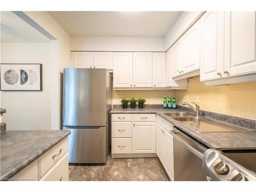
[[[186,101],[196,102],[202,110],[256,120],[256,81],[227,84],[223,86],[205,86],[199,76],[189,78],[187,90],[176,90],[180,104]]]

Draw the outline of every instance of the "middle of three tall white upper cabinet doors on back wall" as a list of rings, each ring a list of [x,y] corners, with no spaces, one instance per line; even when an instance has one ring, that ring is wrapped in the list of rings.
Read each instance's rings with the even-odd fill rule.
[[[133,53],[133,87],[152,87],[152,52]]]

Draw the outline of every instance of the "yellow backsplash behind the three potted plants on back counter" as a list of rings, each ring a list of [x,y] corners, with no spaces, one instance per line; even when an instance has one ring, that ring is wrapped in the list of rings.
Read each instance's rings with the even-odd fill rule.
[[[153,95],[153,99],[151,100],[151,95]],[[134,91],[121,91],[114,90],[113,91],[113,104],[121,104],[120,100],[122,98],[145,98],[145,104],[162,104],[163,97],[169,97],[169,95],[173,98],[174,91],[173,90],[134,90]]]

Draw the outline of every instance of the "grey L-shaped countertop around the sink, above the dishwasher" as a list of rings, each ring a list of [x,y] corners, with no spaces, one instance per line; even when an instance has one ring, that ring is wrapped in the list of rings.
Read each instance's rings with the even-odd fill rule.
[[[252,132],[215,132],[215,133],[198,133],[191,129],[186,124],[173,119],[172,117],[166,116],[164,112],[180,112],[185,111],[183,109],[163,109],[163,108],[144,108],[144,109],[112,109],[110,113],[156,113],[160,115],[168,122],[175,125],[178,129],[190,135],[194,139],[203,143],[209,148],[219,147],[256,147],[256,130]],[[225,116],[225,115],[222,115]],[[250,121],[250,120],[249,120]],[[237,125],[237,124],[236,124]],[[251,127],[252,128],[252,127]],[[255,128],[255,127],[254,127]]]

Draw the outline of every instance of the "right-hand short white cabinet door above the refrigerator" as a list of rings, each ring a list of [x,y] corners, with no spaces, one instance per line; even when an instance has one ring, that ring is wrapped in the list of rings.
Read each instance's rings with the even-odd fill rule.
[[[113,52],[93,52],[93,67],[113,69]]]

